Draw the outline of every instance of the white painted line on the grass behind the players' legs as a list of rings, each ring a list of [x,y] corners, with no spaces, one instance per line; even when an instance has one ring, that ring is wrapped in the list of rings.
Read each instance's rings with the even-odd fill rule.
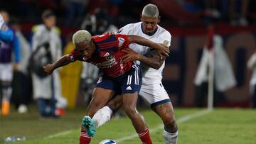
[[[208,110],[208,109],[206,109],[206,110],[203,110],[203,111],[199,111],[199,112],[197,112],[197,113],[192,113],[192,114],[189,114],[189,115],[187,115],[187,116],[182,116],[181,118],[178,118],[177,120],[176,120],[176,123],[183,123],[183,122],[185,122],[185,121],[189,121],[189,120],[191,120],[191,119],[193,119],[193,118],[197,118],[197,117],[199,117],[199,116],[203,116],[203,115],[205,115],[205,114],[207,114],[207,113],[210,113],[212,110]],[[159,125],[159,126],[156,126],[155,128],[151,128],[149,131],[150,131],[150,133],[154,133],[154,132],[156,132],[156,131],[159,131],[161,128],[163,128],[164,127],[164,125],[163,124],[161,124],[161,125]],[[120,143],[120,142],[122,142],[122,141],[124,141],[124,140],[130,140],[130,139],[132,139],[132,138],[136,138],[138,135],[137,135],[137,133],[135,133],[135,134],[133,134],[133,135],[128,135],[128,136],[124,136],[124,137],[122,137],[122,138],[118,138],[118,139],[116,139],[116,140],[114,140],[116,143]]]

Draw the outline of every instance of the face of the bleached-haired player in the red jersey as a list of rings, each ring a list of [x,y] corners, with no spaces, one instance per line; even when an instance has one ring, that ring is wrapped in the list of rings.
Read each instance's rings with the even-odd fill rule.
[[[92,49],[91,43],[79,43],[75,45],[75,47],[79,50],[80,54],[85,57],[85,60],[92,57],[94,50]]]

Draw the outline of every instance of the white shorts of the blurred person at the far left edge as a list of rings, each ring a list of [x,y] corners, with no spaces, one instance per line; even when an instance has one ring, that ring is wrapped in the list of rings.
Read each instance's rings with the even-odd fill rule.
[[[0,80],[11,82],[13,78],[13,66],[11,63],[0,64]]]

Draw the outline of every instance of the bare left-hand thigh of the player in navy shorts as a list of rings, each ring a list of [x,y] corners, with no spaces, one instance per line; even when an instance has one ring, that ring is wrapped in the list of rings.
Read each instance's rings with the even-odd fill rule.
[[[103,89],[100,87],[95,88],[92,93],[92,100],[87,107],[87,115],[93,116],[96,111],[102,109],[102,107],[105,106],[110,99],[112,99],[114,94],[115,93],[112,89]]]

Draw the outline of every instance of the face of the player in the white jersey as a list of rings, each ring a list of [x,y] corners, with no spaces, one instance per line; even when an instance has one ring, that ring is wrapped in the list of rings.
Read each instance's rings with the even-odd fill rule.
[[[151,35],[157,27],[157,23],[160,22],[159,17],[141,16],[142,28],[144,33]]]

